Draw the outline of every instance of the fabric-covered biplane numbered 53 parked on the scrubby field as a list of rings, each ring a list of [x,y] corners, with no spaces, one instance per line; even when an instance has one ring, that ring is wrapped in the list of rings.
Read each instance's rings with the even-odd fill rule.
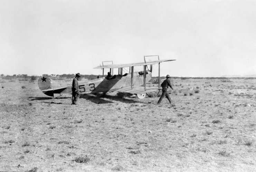
[[[146,61],[147,57],[144,56],[144,62],[129,63],[129,64],[113,64],[113,61],[104,61],[94,69],[102,69],[102,77],[79,82],[80,94],[94,94],[94,93],[107,93],[107,92],[125,92],[136,95],[138,98],[144,98],[146,93],[160,90],[160,63],[174,61],[174,60],[158,60]],[[111,63],[111,64],[107,64]],[[159,65],[158,87],[148,87],[147,82],[152,78],[152,65]],[[135,72],[134,66],[143,66],[143,70]],[[148,68],[150,66],[150,68]],[[118,69],[118,74],[111,77],[104,77],[104,71],[108,70],[113,74],[113,69]],[[129,68],[129,71],[127,70]],[[127,73],[125,73],[126,71]],[[54,87],[53,80],[49,77],[42,77],[38,79],[38,86],[42,93],[53,98],[54,94],[72,94],[72,86]],[[59,97],[58,96],[58,97]]]

